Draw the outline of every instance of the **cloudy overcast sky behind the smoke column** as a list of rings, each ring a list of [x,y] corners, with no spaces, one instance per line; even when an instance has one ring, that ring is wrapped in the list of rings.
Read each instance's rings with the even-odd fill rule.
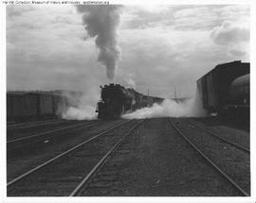
[[[140,93],[192,96],[215,65],[249,61],[249,7],[124,6],[116,82]],[[8,6],[8,90],[99,92],[108,83],[82,13],[66,6]]]

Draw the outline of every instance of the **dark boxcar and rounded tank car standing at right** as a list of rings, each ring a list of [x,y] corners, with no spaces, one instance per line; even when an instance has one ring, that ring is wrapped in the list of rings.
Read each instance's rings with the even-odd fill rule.
[[[240,60],[217,65],[197,80],[197,91],[210,113],[249,120],[249,63]]]

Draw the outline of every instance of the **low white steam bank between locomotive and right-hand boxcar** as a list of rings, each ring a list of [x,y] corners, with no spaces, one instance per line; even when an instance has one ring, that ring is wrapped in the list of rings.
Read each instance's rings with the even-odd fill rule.
[[[142,119],[154,117],[204,117],[207,115],[203,109],[198,94],[182,103],[165,99],[162,104],[154,104],[150,108],[143,108],[132,113],[123,115],[123,118]]]

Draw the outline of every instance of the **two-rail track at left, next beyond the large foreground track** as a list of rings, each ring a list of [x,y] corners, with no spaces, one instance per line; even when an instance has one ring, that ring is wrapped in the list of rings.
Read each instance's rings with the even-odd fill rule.
[[[61,127],[53,130],[48,130],[46,132],[37,133],[34,135],[29,135],[26,137],[21,137],[17,139],[12,139],[7,141],[7,149],[8,149],[8,155],[14,153],[18,149],[22,149],[24,147],[27,147],[29,145],[34,146],[34,144],[39,144],[42,142],[49,142],[50,139],[62,136],[66,133],[70,133],[72,131],[80,130],[84,127],[95,127],[97,125],[101,124],[101,121],[92,121],[92,122],[86,122],[82,124],[77,124],[69,127]]]

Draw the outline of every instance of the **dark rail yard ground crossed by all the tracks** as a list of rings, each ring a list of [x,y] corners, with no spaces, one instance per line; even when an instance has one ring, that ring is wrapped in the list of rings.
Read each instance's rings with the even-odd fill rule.
[[[8,196],[250,195],[248,128],[216,119],[8,126]]]

